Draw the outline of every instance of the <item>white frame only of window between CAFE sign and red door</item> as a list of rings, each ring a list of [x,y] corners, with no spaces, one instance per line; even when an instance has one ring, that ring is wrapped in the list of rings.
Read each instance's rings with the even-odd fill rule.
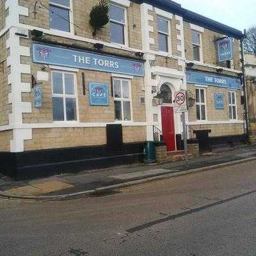
[[[132,115],[132,92],[131,92],[131,79],[126,79],[122,77],[112,77],[113,79],[113,98],[114,102],[115,101],[120,101],[122,102],[121,104],[121,109],[122,109],[122,120],[115,120],[116,123],[122,123],[122,122],[133,122],[133,115]],[[122,86],[122,81],[128,81],[128,87],[129,87],[129,99],[126,98],[118,98],[115,97],[115,86],[114,86],[114,80],[120,81],[121,84],[121,95],[123,95],[123,86]],[[124,120],[124,101],[129,101],[130,102],[130,109],[131,109],[131,120]],[[114,111],[115,111],[115,103],[114,103]]]

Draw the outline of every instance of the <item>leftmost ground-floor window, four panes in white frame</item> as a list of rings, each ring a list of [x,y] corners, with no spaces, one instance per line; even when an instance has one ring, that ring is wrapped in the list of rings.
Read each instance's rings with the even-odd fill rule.
[[[76,121],[76,77],[74,73],[52,71],[52,118],[54,121]]]

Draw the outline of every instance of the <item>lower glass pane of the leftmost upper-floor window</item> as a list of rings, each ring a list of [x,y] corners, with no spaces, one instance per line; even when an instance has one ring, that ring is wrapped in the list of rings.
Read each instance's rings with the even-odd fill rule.
[[[69,10],[52,6],[52,5],[49,5],[49,9],[50,9],[49,10],[50,28],[69,32],[70,31]],[[65,18],[66,20],[63,19],[62,17]]]

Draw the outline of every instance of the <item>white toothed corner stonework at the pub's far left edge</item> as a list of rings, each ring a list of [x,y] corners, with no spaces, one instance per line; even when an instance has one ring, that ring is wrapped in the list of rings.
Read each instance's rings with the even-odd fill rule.
[[[32,129],[22,128],[22,113],[31,113],[31,102],[22,101],[23,92],[31,92],[30,83],[22,83],[22,74],[31,74],[31,67],[20,63],[20,56],[30,57],[30,48],[20,45],[19,15],[28,16],[28,8],[19,5],[18,0],[7,0],[5,9],[8,10],[6,17],[6,50],[7,67],[10,70],[8,75],[8,85],[12,88],[8,94],[8,103],[12,104],[12,113],[9,114],[9,125],[13,127],[13,140],[10,141],[11,152],[24,151],[24,140],[32,139]],[[28,35],[28,30],[24,30],[24,35]],[[24,37],[24,36],[22,36]],[[26,37],[26,36],[25,36]]]

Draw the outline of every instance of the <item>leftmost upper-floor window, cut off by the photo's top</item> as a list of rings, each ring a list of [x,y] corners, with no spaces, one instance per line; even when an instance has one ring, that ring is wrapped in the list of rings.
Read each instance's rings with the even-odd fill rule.
[[[50,28],[70,32],[70,0],[49,1]]]

